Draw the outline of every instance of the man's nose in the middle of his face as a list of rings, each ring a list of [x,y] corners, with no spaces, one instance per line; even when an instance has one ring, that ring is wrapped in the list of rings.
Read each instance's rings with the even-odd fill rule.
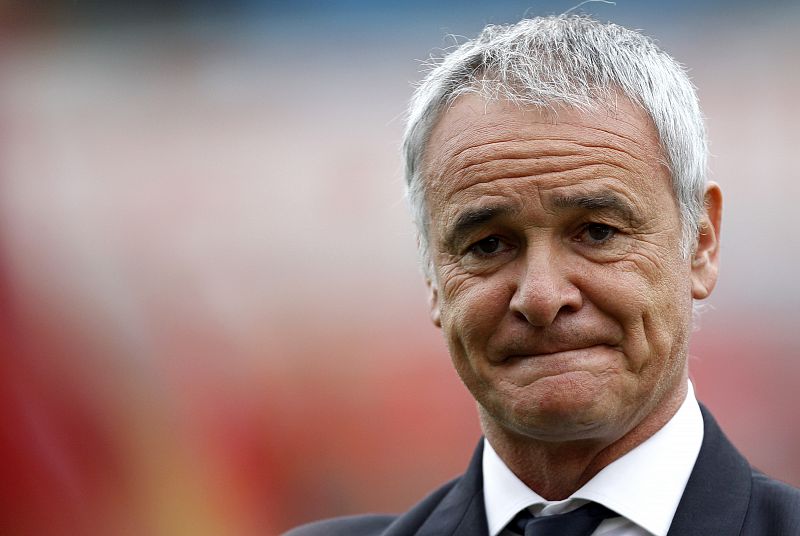
[[[559,313],[577,312],[581,291],[569,278],[569,261],[552,250],[529,251],[509,307],[537,327],[552,324]]]

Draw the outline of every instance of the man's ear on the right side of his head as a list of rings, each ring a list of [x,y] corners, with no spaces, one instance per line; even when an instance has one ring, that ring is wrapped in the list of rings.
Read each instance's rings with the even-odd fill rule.
[[[717,283],[719,232],[722,224],[722,190],[717,183],[706,187],[706,212],[700,221],[697,248],[692,255],[692,298],[707,298]]]

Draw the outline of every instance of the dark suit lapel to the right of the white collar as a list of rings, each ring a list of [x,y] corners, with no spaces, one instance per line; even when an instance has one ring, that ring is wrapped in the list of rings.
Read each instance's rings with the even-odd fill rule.
[[[750,465],[702,404],[700,410],[703,444],[668,536],[738,535],[750,501]]]

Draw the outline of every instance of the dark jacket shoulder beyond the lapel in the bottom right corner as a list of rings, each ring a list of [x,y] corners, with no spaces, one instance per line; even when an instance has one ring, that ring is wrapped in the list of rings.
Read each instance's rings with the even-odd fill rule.
[[[800,489],[753,471],[743,534],[800,534]]]

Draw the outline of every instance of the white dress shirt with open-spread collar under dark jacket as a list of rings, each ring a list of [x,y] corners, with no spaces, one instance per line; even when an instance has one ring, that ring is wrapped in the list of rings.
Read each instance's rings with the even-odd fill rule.
[[[689,382],[686,399],[667,424],[604,467],[563,501],[548,501],[511,472],[487,440],[483,449],[483,498],[489,536],[523,508],[534,516],[569,512],[588,501],[621,517],[604,520],[593,536],[666,536],[703,442],[703,416]]]

